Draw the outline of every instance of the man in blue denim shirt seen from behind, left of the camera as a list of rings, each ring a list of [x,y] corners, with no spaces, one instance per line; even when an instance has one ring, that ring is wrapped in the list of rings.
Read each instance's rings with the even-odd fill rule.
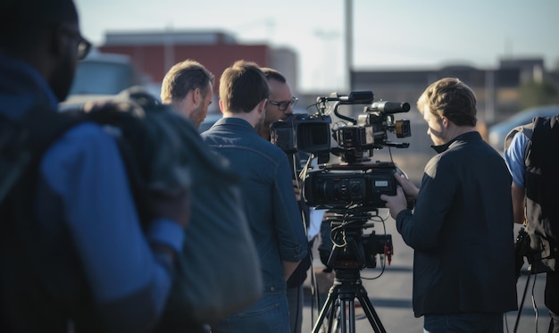
[[[220,79],[223,118],[202,133],[204,141],[227,157],[241,177],[264,286],[260,300],[213,325],[215,333],[289,333],[286,280],[307,254],[288,156],[257,132],[263,126],[269,94],[257,64],[235,62]]]

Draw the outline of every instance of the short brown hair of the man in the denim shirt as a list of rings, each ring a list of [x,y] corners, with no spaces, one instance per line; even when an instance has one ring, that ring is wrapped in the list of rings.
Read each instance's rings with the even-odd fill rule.
[[[220,99],[226,111],[251,112],[269,96],[268,81],[254,62],[239,60],[221,74]]]

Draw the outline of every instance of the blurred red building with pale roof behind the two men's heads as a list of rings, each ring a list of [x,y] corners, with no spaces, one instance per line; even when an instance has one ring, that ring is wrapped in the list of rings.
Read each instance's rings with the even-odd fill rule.
[[[293,50],[267,44],[239,44],[235,37],[222,31],[108,32],[99,50],[129,55],[144,82],[152,86],[160,85],[165,73],[176,62],[193,59],[215,75],[214,97],[217,99],[221,73],[233,62],[244,59],[281,71],[297,91],[297,57]],[[217,103],[210,106],[210,112],[218,110]]]

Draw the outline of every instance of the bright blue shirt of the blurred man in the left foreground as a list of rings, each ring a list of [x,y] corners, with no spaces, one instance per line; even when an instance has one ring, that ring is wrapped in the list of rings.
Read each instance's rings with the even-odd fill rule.
[[[0,54],[0,73],[0,114],[17,120],[33,106],[56,110],[54,93],[29,64]],[[113,137],[85,122],[54,142],[40,162],[30,208],[48,247],[61,248],[59,257],[49,258],[63,270],[53,274],[71,281],[59,286],[61,295],[83,293],[72,288],[85,282],[108,328],[140,331],[154,324],[171,288],[171,267],[149,243],[179,251],[184,232],[168,220],[142,231]],[[86,281],[76,281],[82,270]]]

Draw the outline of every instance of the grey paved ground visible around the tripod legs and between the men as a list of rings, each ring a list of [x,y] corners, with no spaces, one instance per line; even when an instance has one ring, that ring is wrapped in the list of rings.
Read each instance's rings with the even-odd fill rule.
[[[425,130],[425,129],[421,129]],[[421,182],[422,169],[433,153],[429,149],[429,137],[425,132],[415,132],[414,136],[420,137],[413,141],[413,146],[408,149],[393,149],[392,154],[396,164],[403,169],[410,179],[418,185]],[[425,139],[427,137],[427,139]],[[375,159],[386,161],[389,158],[388,152],[379,151],[375,154]],[[384,273],[378,279],[364,279],[377,277],[380,273],[379,268],[366,269],[361,271],[363,277],[363,287],[365,287],[371,303],[379,315],[381,325],[389,332],[408,333],[422,332],[422,318],[414,318],[412,310],[412,270],[413,270],[413,249],[406,246],[402,237],[397,233],[395,222],[389,217],[386,209],[380,210],[380,215],[386,217],[386,230],[392,235],[394,243],[394,257],[390,266],[387,266]],[[383,232],[381,223],[375,223],[374,230],[377,234]],[[515,235],[518,228],[515,229]],[[369,230],[365,230],[368,233]],[[323,267],[320,260],[315,255],[314,270],[321,271]],[[322,281],[321,288],[329,282],[324,282],[324,274],[318,277]],[[532,308],[530,295],[532,294],[531,281],[536,280],[533,288],[535,304],[538,308],[538,325],[536,327],[536,315]],[[521,293],[526,286],[526,276],[519,279],[518,301],[521,302]],[[530,280],[528,296],[524,302],[524,307],[519,321],[517,332],[546,332],[549,323],[549,315],[543,304],[543,289],[545,286],[545,276],[539,275],[536,279]],[[320,287],[320,286],[319,286]],[[305,283],[305,309],[303,319],[303,332],[311,332],[313,323],[317,319],[318,309],[313,302],[314,296],[311,295],[311,281],[307,279]],[[323,299],[322,299],[323,300]],[[358,312],[357,312],[358,313]],[[506,314],[505,332],[513,332],[517,312]],[[373,332],[371,324],[367,319],[355,322],[357,332]]]

